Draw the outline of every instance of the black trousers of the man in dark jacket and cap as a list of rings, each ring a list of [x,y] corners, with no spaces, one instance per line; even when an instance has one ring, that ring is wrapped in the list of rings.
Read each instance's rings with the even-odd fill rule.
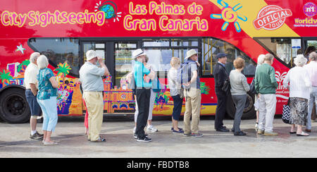
[[[215,116],[215,129],[223,128],[223,119],[225,118],[225,109],[227,102],[227,94],[221,89],[216,88],[217,108]]]

